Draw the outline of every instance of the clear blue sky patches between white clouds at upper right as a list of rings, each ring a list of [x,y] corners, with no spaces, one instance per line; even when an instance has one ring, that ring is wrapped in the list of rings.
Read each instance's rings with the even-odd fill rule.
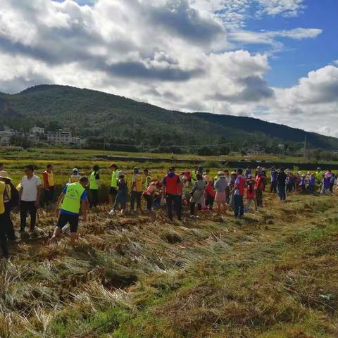
[[[291,87],[311,70],[337,60],[337,15],[337,0],[308,0],[303,13],[296,18],[264,15],[261,20],[249,20],[248,27],[252,30],[290,30],[295,27],[323,30],[316,39],[301,42],[281,39],[286,49],[270,58],[271,70],[265,75],[272,86]]]

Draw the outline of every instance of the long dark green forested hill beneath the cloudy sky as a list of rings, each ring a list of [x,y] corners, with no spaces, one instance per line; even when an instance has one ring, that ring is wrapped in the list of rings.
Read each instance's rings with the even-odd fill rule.
[[[1,88],[0,88],[1,89]],[[68,129],[81,137],[123,144],[303,144],[338,149],[338,139],[254,118],[168,111],[123,96],[68,86],[40,85],[19,94],[0,93],[2,125],[27,130]]]

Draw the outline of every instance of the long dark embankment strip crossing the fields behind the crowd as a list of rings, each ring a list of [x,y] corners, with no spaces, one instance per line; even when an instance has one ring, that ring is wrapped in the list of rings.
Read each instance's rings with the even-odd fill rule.
[[[132,157],[132,156],[107,156],[107,155],[96,155],[96,158],[100,158],[106,161],[133,161],[133,162],[151,162],[151,163],[189,163],[189,164],[202,164],[208,160],[187,160],[180,158],[156,158],[156,157]],[[285,169],[293,169],[294,167],[300,170],[316,170],[320,167],[322,170],[338,170],[338,164],[325,164],[325,163],[288,163],[288,162],[264,162],[264,161],[218,161],[221,165],[225,165],[229,168],[246,168],[250,165],[251,168],[256,168],[258,165],[265,168],[276,168],[283,167]]]

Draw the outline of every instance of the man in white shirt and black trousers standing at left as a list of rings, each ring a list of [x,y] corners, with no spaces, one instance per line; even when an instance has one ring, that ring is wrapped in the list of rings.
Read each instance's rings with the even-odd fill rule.
[[[34,231],[37,221],[37,207],[39,206],[42,181],[34,175],[34,167],[25,167],[25,176],[21,180],[20,188],[20,232],[25,231],[27,212],[30,213],[30,231]]]

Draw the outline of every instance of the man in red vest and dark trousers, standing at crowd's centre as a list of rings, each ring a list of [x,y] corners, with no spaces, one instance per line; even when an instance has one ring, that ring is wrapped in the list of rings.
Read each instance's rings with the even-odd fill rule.
[[[196,177],[197,178],[197,177]],[[177,220],[181,220],[182,214],[182,184],[180,176],[175,174],[175,167],[170,167],[168,175],[163,178],[165,201],[168,208],[168,218],[173,220],[173,207],[177,215]]]

